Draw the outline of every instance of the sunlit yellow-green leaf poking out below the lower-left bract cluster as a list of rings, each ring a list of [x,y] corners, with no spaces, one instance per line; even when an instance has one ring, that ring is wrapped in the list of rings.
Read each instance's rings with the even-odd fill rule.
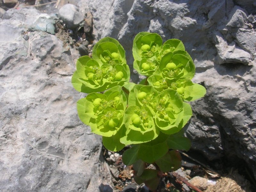
[[[123,143],[120,142],[122,130],[118,131],[115,135],[111,137],[102,137],[102,142],[105,148],[109,151],[120,151],[125,147]]]

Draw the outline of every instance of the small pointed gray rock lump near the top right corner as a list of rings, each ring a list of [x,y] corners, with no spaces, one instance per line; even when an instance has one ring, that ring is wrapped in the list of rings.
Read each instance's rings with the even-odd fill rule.
[[[244,27],[244,23],[247,20],[246,13],[244,10],[239,7],[235,6],[231,13],[229,14],[229,22],[226,26],[228,27],[235,27],[235,28],[242,28]]]

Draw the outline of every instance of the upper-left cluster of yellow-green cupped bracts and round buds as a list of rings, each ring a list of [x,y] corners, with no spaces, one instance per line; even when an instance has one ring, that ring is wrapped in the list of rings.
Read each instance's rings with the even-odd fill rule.
[[[72,84],[79,92],[102,92],[129,82],[130,70],[125,60],[124,48],[116,39],[101,39],[92,50],[92,58],[80,57]]]

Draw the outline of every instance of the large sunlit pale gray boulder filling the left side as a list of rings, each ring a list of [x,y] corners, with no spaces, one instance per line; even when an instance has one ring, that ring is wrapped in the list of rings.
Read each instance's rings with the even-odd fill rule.
[[[77,116],[85,96],[71,84],[79,55],[43,31],[23,39],[22,12],[13,15],[24,21],[0,20],[0,191],[100,192],[111,173],[101,137]]]

